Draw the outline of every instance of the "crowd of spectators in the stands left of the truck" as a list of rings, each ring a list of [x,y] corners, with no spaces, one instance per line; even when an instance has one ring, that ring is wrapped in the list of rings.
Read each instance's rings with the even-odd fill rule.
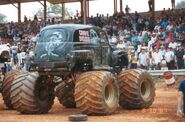
[[[4,63],[3,72],[12,69],[29,70],[36,44],[34,37],[43,26],[43,22],[39,22],[37,18],[31,21],[26,17],[21,23],[0,24],[0,44],[10,49],[10,60]]]

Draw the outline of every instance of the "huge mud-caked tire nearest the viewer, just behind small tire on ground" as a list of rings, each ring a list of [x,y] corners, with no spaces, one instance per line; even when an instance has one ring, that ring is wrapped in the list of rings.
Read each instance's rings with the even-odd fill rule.
[[[87,115],[113,113],[119,102],[119,87],[114,76],[106,71],[85,72],[75,85],[77,108]]]

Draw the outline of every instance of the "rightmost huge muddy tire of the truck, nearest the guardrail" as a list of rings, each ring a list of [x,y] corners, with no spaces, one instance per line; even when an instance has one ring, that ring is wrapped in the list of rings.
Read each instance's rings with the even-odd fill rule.
[[[127,109],[148,108],[155,97],[155,86],[149,73],[140,69],[123,71],[118,75],[119,105]]]

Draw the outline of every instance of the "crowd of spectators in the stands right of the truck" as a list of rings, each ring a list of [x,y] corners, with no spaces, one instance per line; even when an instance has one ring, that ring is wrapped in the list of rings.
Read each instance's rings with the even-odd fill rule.
[[[89,23],[103,28],[117,48],[129,55],[130,68],[185,68],[185,10],[165,10],[154,20],[151,16],[116,13],[97,14]]]

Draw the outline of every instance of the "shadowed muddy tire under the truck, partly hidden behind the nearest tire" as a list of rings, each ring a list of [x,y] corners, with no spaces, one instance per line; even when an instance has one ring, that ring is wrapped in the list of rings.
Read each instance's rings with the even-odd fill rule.
[[[60,104],[66,108],[76,108],[74,88],[75,84],[71,79],[66,82],[61,82],[56,87],[55,96],[57,96]]]

